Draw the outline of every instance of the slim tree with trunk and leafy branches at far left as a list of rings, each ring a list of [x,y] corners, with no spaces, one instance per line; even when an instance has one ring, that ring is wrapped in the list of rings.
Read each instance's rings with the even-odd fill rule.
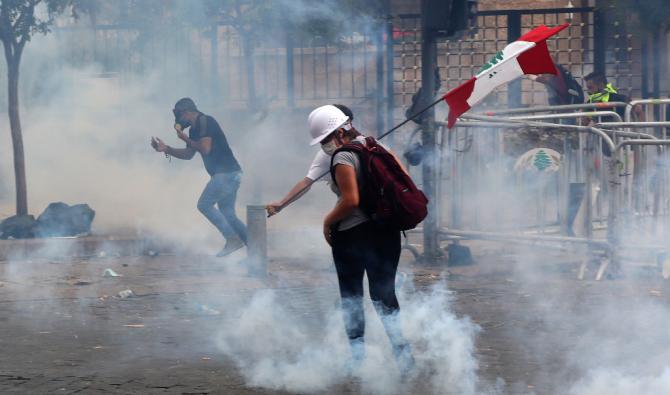
[[[19,68],[26,43],[36,33],[46,34],[54,18],[73,0],[0,0],[0,41],[7,62],[9,125],[14,151],[16,214],[28,214],[26,166],[19,117]]]

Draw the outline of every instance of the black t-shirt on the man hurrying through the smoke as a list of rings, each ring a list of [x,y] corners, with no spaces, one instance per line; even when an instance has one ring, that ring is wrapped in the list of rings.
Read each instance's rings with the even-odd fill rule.
[[[226,135],[223,134],[221,126],[209,115],[200,114],[188,132],[191,140],[200,140],[203,137],[212,138],[212,150],[209,154],[202,155],[205,169],[210,176],[217,173],[234,173],[241,171],[233,151],[228,145]]]

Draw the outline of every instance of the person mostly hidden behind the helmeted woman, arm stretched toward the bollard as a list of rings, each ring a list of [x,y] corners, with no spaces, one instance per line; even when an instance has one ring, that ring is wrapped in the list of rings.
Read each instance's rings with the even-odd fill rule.
[[[333,106],[337,107],[346,115],[349,117],[349,125],[354,121],[354,113],[351,111],[351,109],[344,104],[333,104]],[[278,214],[284,207],[288,206],[289,204],[295,202],[296,200],[300,199],[304,194],[306,194],[310,188],[312,187],[312,184],[317,181],[319,177],[321,177],[323,174],[325,176],[321,177],[321,181],[330,181],[330,155],[327,155],[326,153],[323,152],[323,150],[319,150],[316,155],[314,156],[314,159],[312,160],[312,164],[309,166],[309,171],[307,172],[307,175],[305,178],[302,180],[298,181],[293,188],[291,188],[290,191],[282,198],[282,200],[272,202],[265,206],[265,209],[268,212],[268,216],[273,216],[275,214]]]

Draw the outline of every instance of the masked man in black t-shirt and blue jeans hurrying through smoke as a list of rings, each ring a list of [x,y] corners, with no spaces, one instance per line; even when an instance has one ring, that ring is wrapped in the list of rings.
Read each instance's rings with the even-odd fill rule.
[[[158,152],[184,160],[191,160],[196,152],[200,153],[211,179],[200,195],[198,210],[225,237],[226,245],[216,256],[226,256],[247,243],[247,228],[235,214],[242,169],[218,122],[198,111],[193,100],[188,97],[179,99],[172,112],[177,137],[186,143],[186,147],[172,148],[158,137],[151,138],[151,146]],[[186,128],[190,128],[188,135],[184,133]]]

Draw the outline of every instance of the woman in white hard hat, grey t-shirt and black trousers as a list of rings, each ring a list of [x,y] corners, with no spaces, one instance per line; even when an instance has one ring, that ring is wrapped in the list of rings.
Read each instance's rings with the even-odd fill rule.
[[[349,117],[335,106],[315,109],[308,118],[311,145],[321,144],[321,149],[332,156],[344,144],[366,144],[365,138],[349,121]],[[360,207],[365,174],[357,153],[336,153],[332,157],[332,166],[335,182],[331,183],[331,189],[338,201],[324,219],[323,234],[332,247],[337,270],[344,324],[351,344],[352,372],[365,357],[363,276],[367,273],[370,298],[391,341],[393,355],[401,372],[408,373],[414,358],[400,331],[400,306],[395,294],[400,231],[372,221]]]

